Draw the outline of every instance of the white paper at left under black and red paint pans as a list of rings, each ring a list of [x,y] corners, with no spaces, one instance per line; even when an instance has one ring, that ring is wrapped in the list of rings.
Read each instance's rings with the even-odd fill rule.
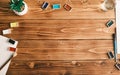
[[[0,35],[0,67],[10,58],[10,56],[14,53],[9,51],[9,47],[17,47],[18,41],[15,44],[10,44],[8,42],[9,38]],[[6,75],[6,72],[9,67],[9,63],[4,66],[2,70],[0,70],[0,75]]]

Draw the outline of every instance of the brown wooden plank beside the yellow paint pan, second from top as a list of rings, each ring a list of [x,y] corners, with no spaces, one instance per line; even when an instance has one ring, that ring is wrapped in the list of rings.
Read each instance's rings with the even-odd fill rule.
[[[14,39],[112,39],[115,23],[107,28],[105,20],[16,20],[18,28],[12,28]],[[2,20],[3,21],[3,20]],[[0,30],[9,28],[13,20],[0,22]],[[114,21],[114,19],[113,19]],[[5,27],[3,27],[5,25]],[[22,36],[21,36],[22,35]],[[89,37],[88,37],[89,36]]]

